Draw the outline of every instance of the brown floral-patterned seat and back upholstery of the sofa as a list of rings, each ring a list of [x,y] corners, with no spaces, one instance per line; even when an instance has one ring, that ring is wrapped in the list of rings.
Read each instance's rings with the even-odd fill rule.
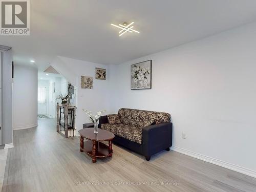
[[[134,109],[120,109],[118,114],[107,115],[109,123],[101,124],[101,129],[115,135],[142,143],[142,128],[152,124],[170,122],[170,114]]]

